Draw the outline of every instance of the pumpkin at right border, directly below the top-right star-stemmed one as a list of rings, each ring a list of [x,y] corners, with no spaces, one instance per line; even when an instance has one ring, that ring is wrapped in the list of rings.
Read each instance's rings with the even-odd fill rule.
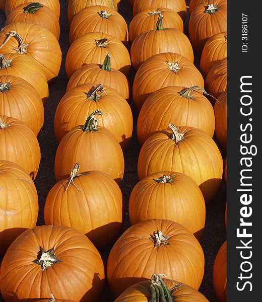
[[[206,78],[209,70],[214,64],[227,57],[227,33],[218,33],[208,39],[205,43],[201,59],[200,70]]]

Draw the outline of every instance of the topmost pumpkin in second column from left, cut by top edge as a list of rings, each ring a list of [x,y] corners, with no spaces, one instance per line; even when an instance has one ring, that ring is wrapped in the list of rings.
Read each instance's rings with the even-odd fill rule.
[[[105,6],[117,11],[115,0],[70,0],[68,3],[68,21],[71,25],[74,17],[83,9],[91,6]]]

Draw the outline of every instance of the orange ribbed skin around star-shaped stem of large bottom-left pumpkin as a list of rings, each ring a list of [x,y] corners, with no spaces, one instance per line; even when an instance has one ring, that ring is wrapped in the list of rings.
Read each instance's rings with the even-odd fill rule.
[[[61,261],[42,271],[33,262],[40,247],[45,251],[54,248]],[[98,302],[104,289],[104,266],[97,249],[81,232],[68,226],[41,225],[21,234],[10,246],[0,281],[7,302],[35,301],[49,298],[50,293],[60,299]]]

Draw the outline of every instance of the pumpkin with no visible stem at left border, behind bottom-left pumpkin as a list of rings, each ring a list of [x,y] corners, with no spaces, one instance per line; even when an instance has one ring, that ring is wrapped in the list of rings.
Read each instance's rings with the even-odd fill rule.
[[[0,160],[0,255],[25,230],[36,225],[38,196],[34,182],[19,165]]]

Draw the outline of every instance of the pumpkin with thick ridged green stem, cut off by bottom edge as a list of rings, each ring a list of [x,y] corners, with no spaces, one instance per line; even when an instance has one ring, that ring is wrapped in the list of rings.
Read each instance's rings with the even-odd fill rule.
[[[159,297],[157,299],[157,297]],[[129,286],[114,302],[208,302],[206,297],[191,286],[153,274],[151,280]]]

